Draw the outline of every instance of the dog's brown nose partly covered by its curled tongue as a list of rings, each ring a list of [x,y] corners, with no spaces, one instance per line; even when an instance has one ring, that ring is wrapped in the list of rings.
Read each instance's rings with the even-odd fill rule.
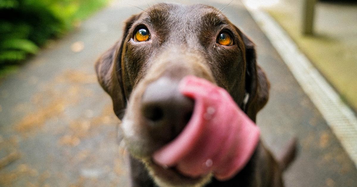
[[[174,139],[191,118],[194,102],[178,90],[178,81],[162,77],[149,84],[141,102],[149,134],[155,141]]]

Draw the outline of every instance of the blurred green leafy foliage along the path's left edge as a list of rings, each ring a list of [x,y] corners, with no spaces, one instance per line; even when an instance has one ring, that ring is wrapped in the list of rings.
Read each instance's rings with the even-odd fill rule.
[[[0,0],[0,77],[108,0]]]

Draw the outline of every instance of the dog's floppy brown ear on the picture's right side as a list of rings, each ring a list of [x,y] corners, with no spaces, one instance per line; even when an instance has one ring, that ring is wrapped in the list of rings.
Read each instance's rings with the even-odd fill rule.
[[[255,122],[257,113],[268,101],[270,83],[262,68],[257,64],[254,43],[243,33],[241,37],[245,45],[246,92],[249,94],[244,111]]]

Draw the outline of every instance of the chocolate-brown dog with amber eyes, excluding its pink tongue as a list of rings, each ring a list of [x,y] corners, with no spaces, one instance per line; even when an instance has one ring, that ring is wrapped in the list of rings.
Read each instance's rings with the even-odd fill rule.
[[[260,141],[245,167],[226,181],[185,176],[152,160],[190,119],[194,102],[177,88],[187,75],[224,88],[254,122],[267,103],[270,83],[256,62],[254,43],[220,10],[153,5],[126,20],[122,39],[100,56],[95,70],[122,120],[131,186],[283,186],[295,139],[278,157]]]

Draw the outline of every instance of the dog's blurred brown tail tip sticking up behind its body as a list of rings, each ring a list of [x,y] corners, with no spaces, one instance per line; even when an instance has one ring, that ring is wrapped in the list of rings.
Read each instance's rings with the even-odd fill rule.
[[[290,163],[295,159],[296,156],[296,144],[297,138],[293,137],[285,146],[285,149],[282,153],[277,157],[277,162],[281,171],[284,171]]]

